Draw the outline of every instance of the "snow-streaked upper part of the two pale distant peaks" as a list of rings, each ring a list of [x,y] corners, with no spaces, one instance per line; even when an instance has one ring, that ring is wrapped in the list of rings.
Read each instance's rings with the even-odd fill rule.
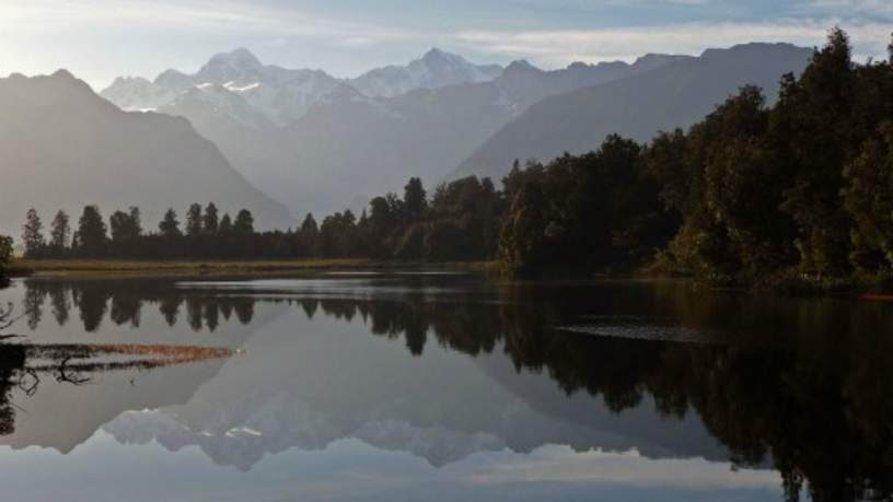
[[[405,66],[372,70],[364,75],[343,81],[321,70],[290,70],[264,65],[248,49],[220,52],[194,74],[166,70],[154,82],[146,79],[118,79],[102,92],[108,101],[125,109],[158,108],[178,114],[184,93],[189,94],[192,109],[201,103],[216,104],[216,109],[252,109],[268,124],[286,126],[303,117],[318,103],[344,97],[346,86],[358,93],[355,98],[392,97],[416,89],[440,89],[495,80],[502,72],[496,65],[474,65],[462,56],[432,48]],[[211,93],[200,100],[196,92]],[[227,106],[221,106],[221,100]],[[236,102],[243,101],[244,106]],[[208,113],[211,113],[209,110]],[[183,112],[182,115],[189,116]],[[258,120],[241,120],[259,124]]]

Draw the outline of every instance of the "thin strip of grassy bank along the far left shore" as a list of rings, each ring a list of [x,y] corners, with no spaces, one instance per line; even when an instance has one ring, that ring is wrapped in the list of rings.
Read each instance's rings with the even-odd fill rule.
[[[298,260],[112,260],[112,259],[13,259],[8,268],[11,276],[258,276],[289,275],[330,270],[387,269],[452,269],[486,272],[496,269],[491,262],[419,264],[351,259]]]

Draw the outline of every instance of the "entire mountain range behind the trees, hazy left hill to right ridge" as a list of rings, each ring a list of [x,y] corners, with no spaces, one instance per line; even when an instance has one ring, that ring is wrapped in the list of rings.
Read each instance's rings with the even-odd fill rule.
[[[213,200],[251,209],[259,227],[286,227],[304,212],[360,210],[410,176],[429,190],[472,174],[498,182],[515,159],[687,127],[747,83],[772,98],[781,74],[811,55],[747,44],[547,71],[431,49],[338,79],[236,49],[195,73],[119,78],[100,94],[116,106],[66,71],[13,75],[0,81],[0,162],[10,166],[0,173],[0,232],[18,234],[34,201],[47,219],[85,202],[136,205],[150,227],[166,207]]]

